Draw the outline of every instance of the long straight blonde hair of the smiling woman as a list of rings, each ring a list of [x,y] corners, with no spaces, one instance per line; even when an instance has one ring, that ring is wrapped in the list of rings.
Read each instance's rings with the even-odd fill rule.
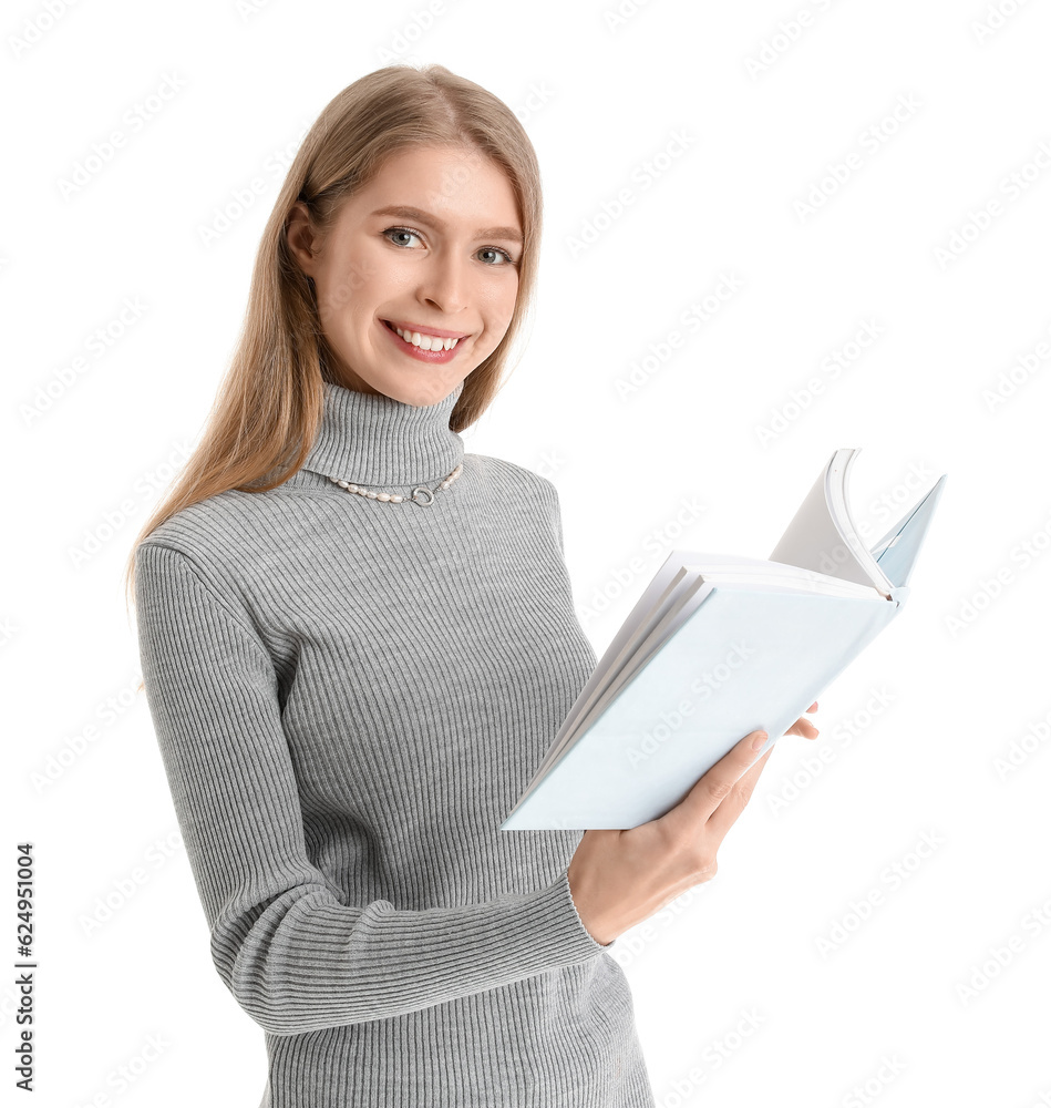
[[[499,345],[464,380],[450,427],[470,427],[493,401],[536,284],[542,228],[536,152],[514,112],[481,85],[444,65],[389,65],[354,81],[326,105],[289,167],[262,233],[226,378],[199,443],[135,538],[125,602],[134,587],[135,550],[152,531],[229,489],[277,488],[302,465],[313,444],[333,359],[320,318],[328,306],[319,310],[313,281],[288,247],[292,206],[302,201],[323,236],[341,202],[368,184],[389,156],[433,145],[487,158],[506,174],[518,204],[524,242],[514,314]],[[338,296],[353,297],[353,288]]]

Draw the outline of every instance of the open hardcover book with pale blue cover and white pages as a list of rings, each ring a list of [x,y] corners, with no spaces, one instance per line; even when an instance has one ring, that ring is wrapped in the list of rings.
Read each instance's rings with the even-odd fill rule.
[[[942,474],[870,550],[837,450],[770,558],[672,551],[502,831],[633,828],[750,731],[762,757],[901,611]]]

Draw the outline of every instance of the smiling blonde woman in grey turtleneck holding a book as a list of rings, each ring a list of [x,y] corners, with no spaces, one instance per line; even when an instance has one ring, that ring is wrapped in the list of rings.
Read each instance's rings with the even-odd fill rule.
[[[714,874],[769,757],[754,732],[630,831],[498,831],[597,660],[555,486],[458,434],[539,235],[491,93],[440,65],[343,90],[134,550],[150,709],[270,1108],[653,1105],[608,948]]]

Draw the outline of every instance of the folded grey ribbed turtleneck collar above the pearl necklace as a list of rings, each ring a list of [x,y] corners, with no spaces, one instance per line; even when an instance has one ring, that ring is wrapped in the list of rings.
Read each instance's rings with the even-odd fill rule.
[[[383,393],[324,381],[324,414],[302,468],[362,485],[441,481],[463,461],[449,418],[463,381],[436,404],[414,408]]]

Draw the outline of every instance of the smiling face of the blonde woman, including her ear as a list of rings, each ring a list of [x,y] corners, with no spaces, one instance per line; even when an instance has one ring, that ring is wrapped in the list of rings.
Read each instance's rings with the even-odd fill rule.
[[[522,257],[517,204],[504,173],[474,151],[395,154],[343,202],[323,239],[297,204],[288,243],[313,278],[321,329],[339,359],[333,372],[349,389],[437,403],[511,324]]]

